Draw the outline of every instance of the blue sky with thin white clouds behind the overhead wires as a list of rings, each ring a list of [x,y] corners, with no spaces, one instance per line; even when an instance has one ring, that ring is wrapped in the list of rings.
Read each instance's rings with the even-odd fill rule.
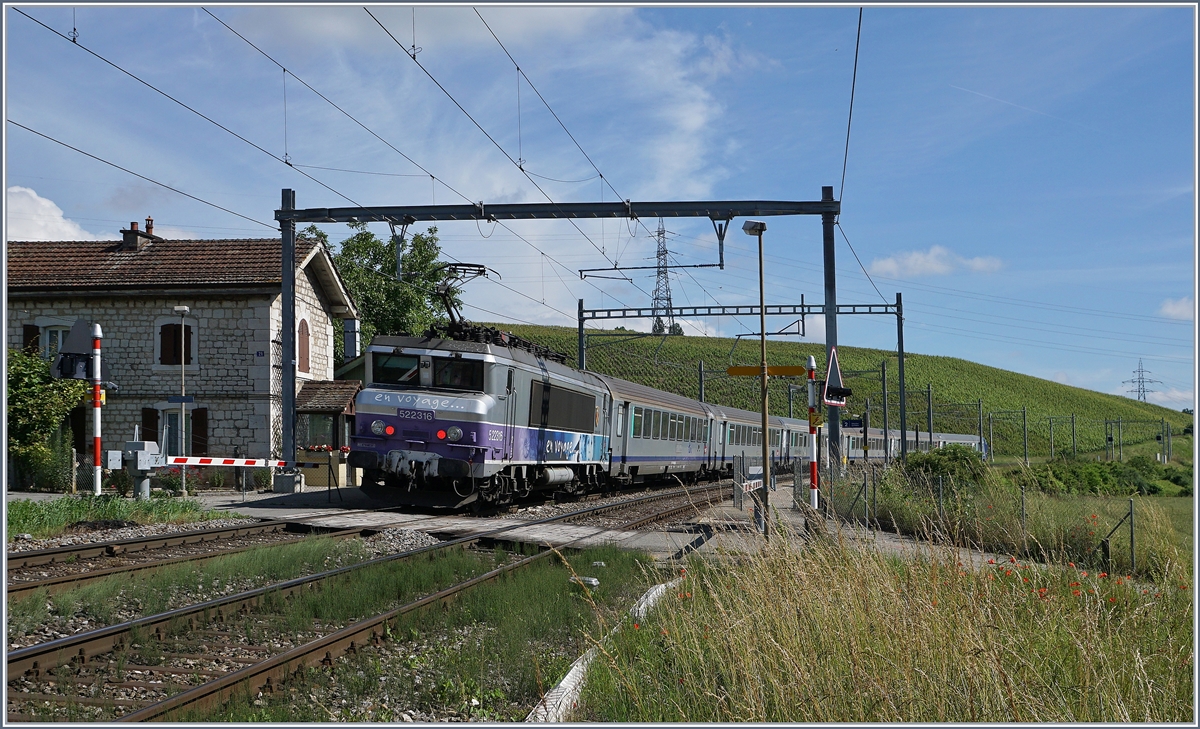
[[[906,351],[1116,394],[1140,361],[1158,380],[1147,399],[1194,406],[1194,6],[869,6],[857,73],[852,5],[206,8],[5,7],[6,240],[115,239],[148,216],[166,237],[270,237],[282,188],[331,207],[816,200],[833,186],[838,301],[902,293]],[[820,218],[766,222],[768,303],[821,303]],[[672,271],[676,305],[757,303],[742,223],[724,270]],[[674,263],[716,261],[707,219],[664,227]],[[469,318],[574,326],[578,299],[650,303],[653,271],[578,270],[652,265],[656,228],[438,235],[446,257],[499,275],[467,284]],[[805,341],[824,342],[820,317]],[[839,342],[894,349],[895,320],[839,318]]]

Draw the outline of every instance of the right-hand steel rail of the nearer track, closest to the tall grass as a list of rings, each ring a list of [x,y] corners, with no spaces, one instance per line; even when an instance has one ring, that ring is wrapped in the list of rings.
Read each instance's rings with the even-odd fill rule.
[[[704,490],[712,490],[714,487],[709,487]],[[715,487],[720,488],[720,487]],[[684,489],[684,493],[689,493]],[[676,492],[673,495],[679,495]],[[712,502],[713,496],[710,495],[706,502]],[[637,501],[644,501],[637,500]],[[624,504],[623,506],[628,506]],[[622,524],[619,529],[636,529],[637,526],[646,524],[648,522],[654,522],[662,519],[665,517],[674,516],[676,513],[695,508],[696,504],[686,504],[678,506],[666,512],[650,514],[647,517],[641,517],[632,522]],[[598,507],[599,508],[599,507]],[[608,508],[608,507],[602,507]],[[563,547],[570,547],[571,544],[582,541],[586,537],[578,537],[572,540]],[[468,580],[434,592],[409,602],[404,606],[388,610],[373,617],[361,620],[352,626],[342,628],[335,633],[330,633],[323,638],[318,638],[304,645],[296,646],[289,651],[272,656],[262,663],[256,663],[246,668],[232,671],[220,679],[202,683],[194,688],[180,692],[170,698],[167,698],[156,704],[151,704],[137,711],[130,712],[119,717],[119,722],[148,722],[154,719],[160,719],[170,713],[175,713],[180,710],[188,707],[198,707],[209,705],[216,701],[221,701],[232,697],[238,692],[239,687],[244,683],[251,682],[253,686],[260,687],[264,693],[274,693],[275,683],[286,679],[288,675],[296,675],[304,668],[308,665],[314,665],[320,663],[323,665],[331,665],[335,656],[342,656],[346,653],[354,653],[358,651],[360,645],[366,645],[367,643],[376,644],[379,641],[380,634],[383,633],[383,627],[396,617],[418,610],[431,604],[439,602],[448,602],[451,597],[460,592],[469,590],[476,585],[486,582],[494,580],[497,577],[504,574],[505,572],[511,572],[521,567],[532,565],[533,562],[545,559],[556,550],[553,548],[547,548],[544,552],[528,556],[520,561],[512,562],[510,565],[503,565],[491,572],[473,577]]]

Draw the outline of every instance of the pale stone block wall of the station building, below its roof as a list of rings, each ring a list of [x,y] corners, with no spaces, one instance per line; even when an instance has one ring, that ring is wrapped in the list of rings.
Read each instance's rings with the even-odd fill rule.
[[[305,379],[334,378],[334,318],[328,302],[307,273],[296,277],[296,321],[306,318],[310,329],[311,372]],[[103,329],[102,356],[107,380],[119,390],[107,390],[102,411],[102,447],[118,450],[133,438],[142,423],[142,409],[161,411],[160,424],[179,405],[167,402],[180,393],[180,366],[160,363],[160,327],[178,324],[173,307],[186,305],[192,327],[193,362],[185,367],[187,394],[196,398],[188,409],[208,409],[208,452],[232,456],[234,448],[247,457],[280,456],[282,411],[278,294],[205,296],[203,293],[170,297],[89,296],[8,300],[8,345],[23,344],[23,326],[44,331],[70,327],[84,318]],[[276,367],[272,367],[272,363]],[[92,416],[86,412],[86,441],[92,438]],[[148,438],[142,435],[142,438]],[[158,435],[152,436],[157,440]],[[188,444],[191,448],[191,444]]]

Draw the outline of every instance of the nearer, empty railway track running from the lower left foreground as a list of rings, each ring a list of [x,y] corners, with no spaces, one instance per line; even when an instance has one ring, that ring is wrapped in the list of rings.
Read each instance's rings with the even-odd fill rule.
[[[481,540],[503,541],[504,532],[514,529],[630,508],[638,513],[631,519],[624,518],[619,528],[636,529],[720,501],[727,498],[728,490],[727,484],[677,489],[586,507],[17,649],[7,655],[8,719],[43,721],[40,713],[80,718],[80,707],[92,706],[103,709],[109,716],[119,716],[120,721],[150,721],[211,705],[246,686],[272,691],[299,668],[331,663],[358,646],[379,640],[385,626],[404,613],[451,600],[463,590],[545,559],[553,552],[514,556],[494,570],[409,600],[348,627],[316,622],[280,635],[275,622],[278,615],[271,610],[289,598],[347,580],[360,570],[464,549]],[[665,508],[646,511],[649,505],[662,501],[668,502]],[[131,656],[142,659],[131,662]],[[146,659],[148,656],[157,657],[161,663]]]

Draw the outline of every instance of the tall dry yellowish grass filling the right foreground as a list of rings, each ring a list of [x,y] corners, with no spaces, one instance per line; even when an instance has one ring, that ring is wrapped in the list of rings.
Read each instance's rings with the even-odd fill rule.
[[[773,540],[692,561],[606,645],[575,718],[1190,723],[1193,585],[1169,572],[1150,588]]]

